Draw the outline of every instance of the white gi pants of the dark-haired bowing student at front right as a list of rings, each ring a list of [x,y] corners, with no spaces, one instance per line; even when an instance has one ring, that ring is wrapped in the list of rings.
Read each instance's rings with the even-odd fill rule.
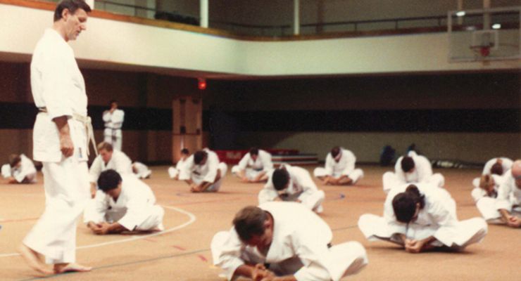
[[[403,245],[399,235],[392,233],[387,221],[382,216],[363,214],[358,219],[358,228],[360,228],[365,238],[370,241],[384,240]],[[459,221],[456,226],[446,227],[441,231],[438,230],[438,226],[422,226],[416,223],[409,223],[406,236],[415,240],[434,236],[437,241],[434,241],[432,245],[435,247],[445,245],[446,247],[460,250],[483,240],[485,235],[487,235],[488,228],[483,218],[470,218],[465,221]]]

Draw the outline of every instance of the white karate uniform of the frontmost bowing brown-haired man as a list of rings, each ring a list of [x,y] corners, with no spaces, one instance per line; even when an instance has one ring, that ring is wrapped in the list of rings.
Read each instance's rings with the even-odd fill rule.
[[[269,269],[277,275],[294,275],[299,281],[339,280],[354,261],[358,263],[352,273],[367,264],[365,249],[358,242],[339,244],[339,247],[348,246],[344,251],[328,249],[331,229],[301,204],[268,202],[259,207],[268,211],[274,220],[272,243],[266,256],[256,247],[241,242],[234,227],[213,238],[213,263],[225,270],[228,280],[237,278],[234,272],[245,261],[269,263]]]

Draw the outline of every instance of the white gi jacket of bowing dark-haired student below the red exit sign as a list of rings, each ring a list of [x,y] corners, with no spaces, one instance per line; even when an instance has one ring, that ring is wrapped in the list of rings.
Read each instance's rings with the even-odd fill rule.
[[[213,183],[213,181],[215,181],[215,176],[217,176],[217,170],[219,169],[219,157],[208,148],[204,148],[204,151],[208,153],[206,163],[202,166],[196,165],[194,163],[194,155],[190,155],[181,167],[179,174],[180,181],[185,181],[189,178],[196,184],[200,184],[202,181],[206,181],[207,183]]]

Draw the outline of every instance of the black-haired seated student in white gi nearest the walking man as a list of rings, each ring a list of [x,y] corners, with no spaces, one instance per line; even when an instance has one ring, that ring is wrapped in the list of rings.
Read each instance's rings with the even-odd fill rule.
[[[84,212],[84,223],[97,235],[123,231],[163,230],[165,211],[156,204],[149,185],[112,169],[98,179],[99,190]]]

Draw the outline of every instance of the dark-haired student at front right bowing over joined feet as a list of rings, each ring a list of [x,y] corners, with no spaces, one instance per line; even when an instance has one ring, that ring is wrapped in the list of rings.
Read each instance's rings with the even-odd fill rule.
[[[425,183],[391,189],[384,203],[384,216],[363,214],[358,228],[370,241],[394,242],[409,253],[433,248],[461,250],[487,235],[483,218],[458,221],[451,195]]]

